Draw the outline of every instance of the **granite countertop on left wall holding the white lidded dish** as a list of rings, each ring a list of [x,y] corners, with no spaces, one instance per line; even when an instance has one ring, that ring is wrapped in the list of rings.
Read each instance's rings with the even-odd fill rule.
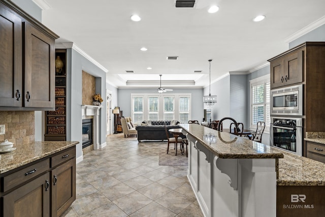
[[[43,141],[15,145],[8,153],[0,153],[0,174],[20,166],[50,156],[53,153],[72,147],[79,142],[73,141]]]

